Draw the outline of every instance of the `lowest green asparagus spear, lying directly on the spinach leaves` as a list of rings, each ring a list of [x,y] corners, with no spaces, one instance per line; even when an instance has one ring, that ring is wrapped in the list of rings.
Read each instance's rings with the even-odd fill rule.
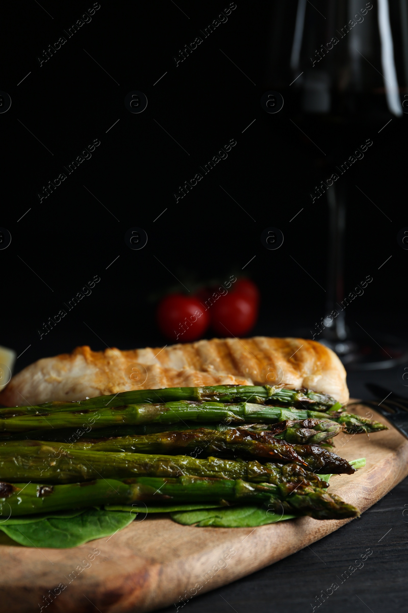
[[[64,511],[101,504],[132,504],[137,501],[254,503],[296,511],[316,519],[343,519],[359,514],[351,504],[310,485],[251,484],[240,479],[180,477],[160,479],[97,479],[83,484],[43,485],[0,482],[0,512],[5,517]]]

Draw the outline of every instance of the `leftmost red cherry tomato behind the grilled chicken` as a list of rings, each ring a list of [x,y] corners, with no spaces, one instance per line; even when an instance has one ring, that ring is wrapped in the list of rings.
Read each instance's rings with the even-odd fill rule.
[[[158,305],[157,323],[169,340],[185,343],[202,337],[209,326],[210,317],[198,298],[170,294]]]

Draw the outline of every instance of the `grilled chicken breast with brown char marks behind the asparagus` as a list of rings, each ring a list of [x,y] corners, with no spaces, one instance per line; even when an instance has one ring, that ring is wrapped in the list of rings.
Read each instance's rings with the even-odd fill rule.
[[[92,351],[47,357],[15,375],[0,394],[5,406],[83,400],[131,389],[259,385],[308,387],[347,402],[346,371],[336,354],[303,338],[213,338],[165,348]]]

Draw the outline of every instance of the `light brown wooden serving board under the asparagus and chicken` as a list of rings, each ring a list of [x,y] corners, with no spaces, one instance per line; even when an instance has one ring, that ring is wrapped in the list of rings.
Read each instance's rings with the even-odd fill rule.
[[[366,416],[368,409],[359,406],[353,412]],[[387,423],[379,414],[373,412],[373,417]],[[335,439],[336,453],[347,460],[366,457],[367,463],[354,475],[333,476],[329,491],[361,511],[408,474],[408,440],[387,425],[390,430],[369,437]],[[181,606],[182,596],[191,598],[191,593],[200,595],[253,573],[348,521],[302,517],[258,528],[196,528],[150,515],[74,549],[21,547],[3,535],[2,610],[23,613],[43,606],[47,613],[143,613],[173,603]],[[45,596],[60,584],[66,587],[46,606]]]

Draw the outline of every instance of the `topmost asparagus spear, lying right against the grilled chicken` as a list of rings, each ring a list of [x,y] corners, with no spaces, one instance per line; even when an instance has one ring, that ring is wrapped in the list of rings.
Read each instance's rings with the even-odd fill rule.
[[[23,414],[47,414],[56,411],[78,411],[78,409],[103,409],[109,406],[134,404],[157,404],[191,400],[194,402],[248,402],[273,403],[281,406],[302,406],[326,409],[341,404],[327,394],[319,394],[306,389],[282,389],[282,386],[210,386],[210,387],[166,387],[163,389],[140,389],[109,396],[97,396],[78,402],[45,402],[35,406],[17,406],[0,409],[0,416]]]

